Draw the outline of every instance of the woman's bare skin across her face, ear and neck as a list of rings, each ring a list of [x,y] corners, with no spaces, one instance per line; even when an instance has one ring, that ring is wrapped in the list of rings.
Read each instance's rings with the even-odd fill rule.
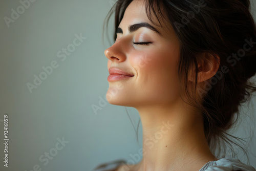
[[[161,35],[146,27],[130,33],[129,26],[137,23],[148,23]],[[135,0],[127,7],[119,27],[122,32],[117,33],[113,46],[105,50],[108,69],[117,67],[133,73],[134,77],[110,81],[106,97],[111,104],[136,108],[141,118],[143,158],[129,165],[130,170],[196,171],[205,163],[218,160],[207,145],[200,111],[180,97],[177,70],[180,45],[172,27],[167,30],[150,22],[142,0]],[[214,76],[219,68],[213,57],[198,63],[199,83]],[[193,74],[190,75],[189,80],[193,81]],[[170,129],[163,127],[164,123]],[[118,170],[126,170],[125,167],[122,165]]]

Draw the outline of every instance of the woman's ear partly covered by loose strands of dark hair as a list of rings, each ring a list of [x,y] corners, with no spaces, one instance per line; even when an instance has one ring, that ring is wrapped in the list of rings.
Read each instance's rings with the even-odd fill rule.
[[[207,79],[213,77],[219,67],[220,67],[220,57],[216,54],[211,54],[208,52],[200,54],[197,59],[198,63],[198,77],[197,82],[203,82]],[[192,70],[189,73],[188,79],[191,82],[195,82],[196,70],[195,66],[192,67]]]

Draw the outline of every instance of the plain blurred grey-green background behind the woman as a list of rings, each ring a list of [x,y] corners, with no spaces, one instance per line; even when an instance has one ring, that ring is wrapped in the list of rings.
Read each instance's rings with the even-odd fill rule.
[[[11,17],[19,1],[0,2],[0,156],[4,156],[3,119],[9,115],[9,167],[0,170],[32,170],[38,164],[42,170],[91,170],[100,163],[116,159],[131,159],[138,153],[142,139],[136,141],[134,125],[139,115],[133,108],[101,103],[109,87],[108,68],[102,44],[102,24],[114,1],[35,1],[8,27],[4,17]],[[252,12],[255,14],[255,3]],[[19,9],[20,10],[20,9]],[[112,22],[113,23],[113,22]],[[75,34],[87,37],[63,61],[57,57],[62,48],[72,47]],[[58,67],[32,93],[27,83],[42,67]],[[255,103],[253,98],[251,103]],[[129,111],[126,114],[125,109]],[[240,137],[248,132],[255,119],[255,109],[245,108],[250,115],[237,127]],[[132,121],[132,122],[131,122]],[[133,123],[133,124],[132,124]],[[141,137],[141,125],[139,127]],[[56,151],[58,138],[69,141]],[[256,137],[256,136],[255,136]],[[256,161],[256,140],[249,147],[251,161]],[[59,145],[60,147],[60,145]],[[54,151],[55,150],[55,151]],[[47,164],[41,155],[57,152]],[[46,157],[44,157],[46,158]],[[243,157],[241,160],[244,161]],[[251,163],[256,167],[256,163]]]

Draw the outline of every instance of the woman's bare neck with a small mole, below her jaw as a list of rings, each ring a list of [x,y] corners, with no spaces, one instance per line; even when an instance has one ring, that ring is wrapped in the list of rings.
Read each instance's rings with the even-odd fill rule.
[[[216,160],[204,136],[202,117],[181,100],[136,109],[143,127],[143,159],[137,170],[199,170]]]

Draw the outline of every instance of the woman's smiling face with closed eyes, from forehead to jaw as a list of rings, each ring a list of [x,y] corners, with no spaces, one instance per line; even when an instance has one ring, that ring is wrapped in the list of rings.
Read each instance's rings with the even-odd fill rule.
[[[119,28],[114,45],[105,50],[108,69],[118,68],[134,76],[109,76],[107,100],[135,108],[174,103],[180,94],[177,72],[180,46],[173,28],[169,26],[165,32],[150,22],[141,0],[126,8]]]

